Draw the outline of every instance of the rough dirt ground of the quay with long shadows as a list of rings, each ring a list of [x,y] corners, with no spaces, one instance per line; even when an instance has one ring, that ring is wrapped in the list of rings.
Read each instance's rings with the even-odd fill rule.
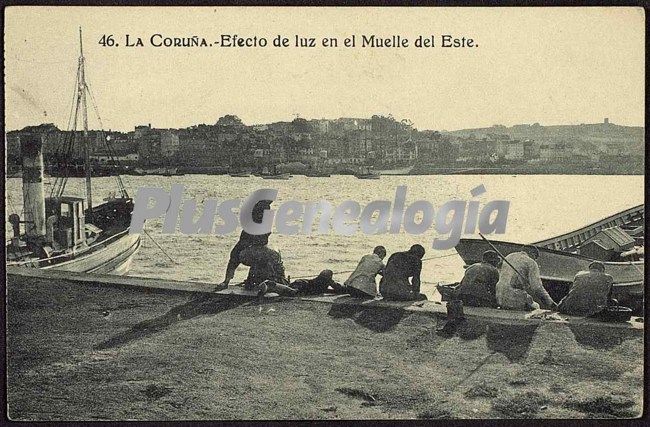
[[[629,418],[639,334],[12,277],[13,420]]]

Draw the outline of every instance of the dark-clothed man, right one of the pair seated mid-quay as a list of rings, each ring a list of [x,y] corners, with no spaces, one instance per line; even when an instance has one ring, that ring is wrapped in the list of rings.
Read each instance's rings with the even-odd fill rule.
[[[413,245],[406,252],[396,252],[388,258],[384,277],[379,282],[379,292],[385,300],[421,301],[427,296],[420,293],[422,272],[422,245]],[[409,281],[409,278],[411,280]]]

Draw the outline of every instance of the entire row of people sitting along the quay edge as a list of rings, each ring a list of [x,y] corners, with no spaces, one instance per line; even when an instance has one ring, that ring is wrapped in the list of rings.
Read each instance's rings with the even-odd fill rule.
[[[264,211],[271,201],[260,201],[253,208],[253,221],[261,223]],[[392,254],[386,264],[386,248],[377,246],[364,255],[356,269],[343,283],[333,279],[331,270],[323,270],[313,279],[291,282],[285,276],[280,253],[268,247],[270,233],[252,235],[242,231],[239,241],[230,252],[226,277],[217,290],[228,287],[240,264],[250,267],[244,288],[268,291],[280,295],[316,295],[322,293],[349,294],[357,298],[372,299],[381,295],[384,300],[426,300],[420,293],[420,273],[425,250],[413,245],[404,252]],[[486,251],[480,263],[469,266],[456,298],[470,306],[500,307],[509,310],[535,310],[545,308],[564,314],[590,316],[615,304],[611,298],[612,277],[605,273],[605,265],[594,261],[589,271],[575,276],[569,293],[559,304],[553,301],[542,284],[536,262],[539,249],[525,246],[521,251],[505,257],[495,251]],[[379,289],[376,277],[381,276]]]

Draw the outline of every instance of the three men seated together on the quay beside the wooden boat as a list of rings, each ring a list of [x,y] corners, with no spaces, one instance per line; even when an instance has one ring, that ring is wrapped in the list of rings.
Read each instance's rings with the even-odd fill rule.
[[[616,305],[612,299],[612,276],[605,273],[605,264],[600,261],[592,262],[589,271],[578,272],[568,294],[556,303],[542,284],[538,257],[539,249],[535,246],[525,246],[504,258],[494,251],[486,251],[482,262],[465,271],[456,288],[456,297],[470,306],[509,310],[545,308],[576,316],[592,316]]]

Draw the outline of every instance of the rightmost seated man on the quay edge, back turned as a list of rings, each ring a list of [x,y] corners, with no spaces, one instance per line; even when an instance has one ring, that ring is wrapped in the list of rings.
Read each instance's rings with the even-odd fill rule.
[[[612,300],[613,283],[612,276],[605,273],[605,264],[592,262],[589,271],[581,271],[574,277],[569,293],[560,301],[560,313],[593,316],[609,305],[616,305]]]

